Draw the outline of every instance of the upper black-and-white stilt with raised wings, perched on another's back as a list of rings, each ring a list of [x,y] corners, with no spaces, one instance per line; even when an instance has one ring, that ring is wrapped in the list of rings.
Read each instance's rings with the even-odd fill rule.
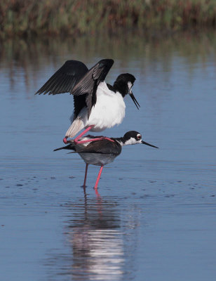
[[[78,60],[67,60],[36,92],[49,95],[69,92],[74,95],[74,115],[63,139],[64,143],[67,143],[67,138],[73,138],[82,129],[85,130],[74,139],[74,143],[93,141],[79,141],[88,131],[103,131],[120,124],[126,108],[123,98],[128,93],[139,109],[140,105],[131,91],[135,82],[132,74],[120,74],[113,86],[105,83],[104,79],[113,63],[114,60],[111,59],[100,60],[88,70],[88,67]],[[97,138],[97,141],[102,138]]]

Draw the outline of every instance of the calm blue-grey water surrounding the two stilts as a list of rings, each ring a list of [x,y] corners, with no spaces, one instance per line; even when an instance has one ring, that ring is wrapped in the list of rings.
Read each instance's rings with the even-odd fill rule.
[[[6,41],[1,46],[1,280],[216,278],[216,34]],[[73,98],[34,96],[68,59],[136,77],[138,111],[102,132],[142,133],[104,167],[63,145]],[[101,133],[100,133],[101,134]]]

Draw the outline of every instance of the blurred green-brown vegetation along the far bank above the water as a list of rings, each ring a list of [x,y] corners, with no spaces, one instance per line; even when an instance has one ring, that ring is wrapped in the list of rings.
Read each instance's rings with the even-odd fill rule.
[[[1,0],[0,37],[215,27],[215,0]]]

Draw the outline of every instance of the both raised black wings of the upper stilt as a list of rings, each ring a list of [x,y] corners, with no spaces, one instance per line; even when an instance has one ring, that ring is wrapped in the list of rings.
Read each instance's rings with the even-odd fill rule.
[[[74,119],[83,106],[90,110],[96,103],[97,86],[104,81],[107,73],[112,67],[114,60],[100,60],[90,70],[78,60],[67,60],[60,69],[36,92],[50,94],[68,93],[74,95]]]

